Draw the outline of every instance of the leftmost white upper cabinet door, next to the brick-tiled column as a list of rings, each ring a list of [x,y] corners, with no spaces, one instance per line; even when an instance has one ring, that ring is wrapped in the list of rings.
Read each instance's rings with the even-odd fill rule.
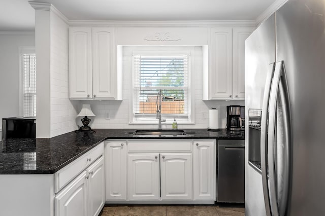
[[[70,98],[92,98],[91,27],[71,27],[69,37]]]

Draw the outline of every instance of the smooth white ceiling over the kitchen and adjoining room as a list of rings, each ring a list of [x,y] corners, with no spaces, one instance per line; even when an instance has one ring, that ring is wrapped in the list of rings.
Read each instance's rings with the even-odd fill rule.
[[[69,20],[255,20],[276,0],[39,0]],[[28,0],[0,1],[0,31],[33,30]]]

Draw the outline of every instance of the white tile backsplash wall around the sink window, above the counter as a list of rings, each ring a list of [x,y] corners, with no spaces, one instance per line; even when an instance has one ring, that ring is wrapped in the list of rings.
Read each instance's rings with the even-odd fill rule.
[[[95,117],[90,117],[92,128],[157,128],[157,124],[129,124],[129,103],[132,94],[132,63],[131,56],[123,52],[123,100],[122,101],[81,101],[90,103]],[[194,58],[193,58],[194,57]],[[208,128],[209,109],[216,107],[219,109],[219,127],[225,128],[226,105],[244,105],[244,101],[202,101],[202,47],[195,47],[195,54],[191,59],[195,59],[194,68],[191,74],[194,76],[194,112],[195,124],[179,124],[179,128]],[[78,110],[79,111],[79,110]],[[206,119],[202,119],[202,111],[206,112]],[[105,119],[109,113],[110,119]],[[77,123],[81,124],[81,117]],[[158,121],[158,120],[157,120]],[[172,128],[171,124],[162,123],[163,128]]]

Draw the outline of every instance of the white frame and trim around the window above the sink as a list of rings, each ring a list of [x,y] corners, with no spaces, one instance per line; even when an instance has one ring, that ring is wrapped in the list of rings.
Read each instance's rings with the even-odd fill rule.
[[[147,46],[144,46],[147,47]],[[143,50],[137,49],[132,51],[132,93],[129,97],[129,124],[156,124],[158,120],[155,118],[156,114],[146,114],[146,116],[152,116],[152,118],[136,118],[134,113],[134,95],[135,95],[135,64],[134,56],[143,55],[143,56],[187,56],[188,61],[188,71],[187,71],[187,92],[188,92],[188,117],[186,119],[178,118],[178,115],[173,114],[161,114],[162,118],[166,119],[167,124],[172,124],[174,117],[176,117],[177,123],[179,124],[194,124],[195,113],[194,113],[194,88],[192,88],[192,69],[194,68],[194,46],[169,46],[169,50],[160,50],[159,46],[151,46],[157,48],[156,51],[148,50],[144,48]],[[165,47],[165,46],[164,46]]]

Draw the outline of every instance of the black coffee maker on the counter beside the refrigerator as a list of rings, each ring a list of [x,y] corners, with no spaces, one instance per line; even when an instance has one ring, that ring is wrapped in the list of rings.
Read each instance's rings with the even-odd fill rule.
[[[234,133],[242,131],[242,117],[245,116],[244,107],[240,105],[227,106],[227,130]]]

